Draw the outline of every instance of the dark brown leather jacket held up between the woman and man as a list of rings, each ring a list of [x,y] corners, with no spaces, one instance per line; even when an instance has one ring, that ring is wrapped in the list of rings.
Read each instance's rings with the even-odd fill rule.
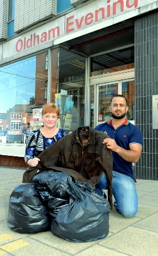
[[[38,158],[37,167],[29,167],[23,174],[23,183],[31,182],[38,170],[51,167],[73,176],[76,182],[87,180],[95,186],[103,172],[107,176],[108,200],[112,208],[112,151],[103,144],[109,137],[91,127],[79,127],[76,131],[56,141]]]

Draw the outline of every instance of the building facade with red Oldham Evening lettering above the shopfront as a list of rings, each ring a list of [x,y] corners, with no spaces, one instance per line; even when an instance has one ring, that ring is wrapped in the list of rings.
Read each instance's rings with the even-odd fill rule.
[[[7,113],[9,133],[39,128],[49,102],[59,105],[58,126],[67,132],[94,128],[110,119],[111,97],[123,94],[127,118],[144,137],[136,178],[158,180],[158,1],[2,0],[0,6],[0,113]],[[17,127],[13,110],[20,105]]]

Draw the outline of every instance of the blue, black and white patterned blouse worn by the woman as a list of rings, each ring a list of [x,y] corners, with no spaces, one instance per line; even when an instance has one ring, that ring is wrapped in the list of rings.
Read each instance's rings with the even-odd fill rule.
[[[25,162],[27,163],[29,159],[37,157],[44,149],[64,136],[66,136],[66,131],[60,128],[52,138],[44,137],[42,132],[40,132],[40,129],[32,131],[26,143]]]

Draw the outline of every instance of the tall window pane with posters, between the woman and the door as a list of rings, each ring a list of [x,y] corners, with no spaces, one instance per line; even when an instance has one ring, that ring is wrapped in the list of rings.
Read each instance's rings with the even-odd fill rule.
[[[84,125],[84,85],[86,60],[78,54],[59,49],[59,60],[56,62],[56,70],[59,72],[58,93],[52,94],[55,103],[60,107],[60,127],[75,131]],[[52,60],[54,60],[52,56]],[[54,88],[52,76],[52,90]]]

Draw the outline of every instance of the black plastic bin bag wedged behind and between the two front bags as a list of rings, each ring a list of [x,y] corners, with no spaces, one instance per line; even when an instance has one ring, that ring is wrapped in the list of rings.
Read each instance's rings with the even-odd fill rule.
[[[69,203],[70,196],[67,194],[67,189],[70,181],[72,181],[70,175],[50,168],[33,178],[36,190],[53,218],[60,208]]]

